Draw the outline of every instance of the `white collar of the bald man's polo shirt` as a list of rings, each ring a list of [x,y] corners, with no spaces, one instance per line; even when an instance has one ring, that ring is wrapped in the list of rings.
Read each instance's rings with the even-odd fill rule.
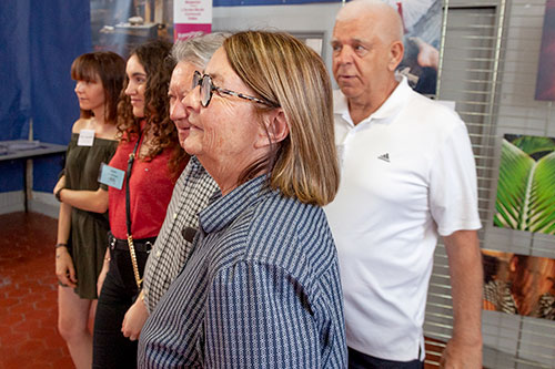
[[[367,122],[371,120],[386,120],[389,117],[393,117],[401,111],[401,107],[408,101],[410,93],[412,89],[408,86],[408,82],[406,76],[401,75],[401,81],[398,82],[395,90],[393,90],[392,94],[385,102],[380,106],[373,114],[365,117],[361,123]],[[341,91],[336,91],[334,95],[334,112],[337,115],[353,124],[353,120],[351,119],[351,114],[349,112],[349,103]]]

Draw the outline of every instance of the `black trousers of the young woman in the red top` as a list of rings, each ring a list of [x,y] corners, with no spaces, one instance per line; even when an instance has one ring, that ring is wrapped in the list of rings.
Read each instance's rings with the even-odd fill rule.
[[[140,275],[149,256],[137,252]],[[110,270],[102,285],[94,318],[92,367],[98,369],[137,368],[138,341],[121,332],[125,312],[133,304],[138,288],[129,249],[110,249]]]

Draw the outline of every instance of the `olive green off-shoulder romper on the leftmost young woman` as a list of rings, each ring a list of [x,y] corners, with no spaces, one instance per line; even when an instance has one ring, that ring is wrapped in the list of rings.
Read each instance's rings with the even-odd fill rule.
[[[92,146],[78,146],[79,134],[73,133],[65,154],[65,188],[97,191],[101,163],[110,163],[118,141],[94,137]],[[97,279],[102,269],[108,246],[108,212],[85,212],[73,207],[68,249],[77,274],[75,294],[81,298],[97,298]]]

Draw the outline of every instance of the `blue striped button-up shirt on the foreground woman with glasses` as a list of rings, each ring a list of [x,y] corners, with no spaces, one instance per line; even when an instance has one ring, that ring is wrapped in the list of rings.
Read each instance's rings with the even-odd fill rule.
[[[324,213],[264,180],[201,212],[194,249],[141,331],[141,368],[346,367]]]

